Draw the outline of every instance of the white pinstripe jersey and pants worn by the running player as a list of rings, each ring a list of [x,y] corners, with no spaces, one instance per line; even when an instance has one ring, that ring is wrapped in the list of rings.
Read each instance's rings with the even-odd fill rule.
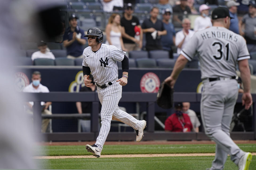
[[[118,80],[117,62],[123,61],[125,53],[113,45],[106,44],[101,44],[97,52],[93,52],[90,46],[83,51],[82,65],[90,68],[102,104],[101,129],[95,143],[100,150],[99,152],[101,152],[106,141],[112,119],[130,125],[135,130],[142,127],[142,121],[137,120],[118,107],[118,102],[122,96],[122,86],[116,82]],[[99,87],[101,85],[107,87],[101,88]]]

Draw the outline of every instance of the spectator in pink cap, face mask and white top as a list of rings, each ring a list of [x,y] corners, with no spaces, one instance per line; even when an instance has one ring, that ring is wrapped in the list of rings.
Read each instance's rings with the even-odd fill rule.
[[[208,16],[209,9],[210,7],[205,4],[200,5],[200,16],[198,16],[194,21],[194,31],[201,31],[212,26],[211,18]]]

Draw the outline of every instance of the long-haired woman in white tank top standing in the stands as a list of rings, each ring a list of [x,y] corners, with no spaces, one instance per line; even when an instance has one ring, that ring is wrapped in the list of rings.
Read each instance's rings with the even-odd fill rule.
[[[123,39],[121,34],[120,15],[112,14],[109,17],[109,23],[106,26],[107,45],[114,45],[118,49],[127,51],[123,45]]]

